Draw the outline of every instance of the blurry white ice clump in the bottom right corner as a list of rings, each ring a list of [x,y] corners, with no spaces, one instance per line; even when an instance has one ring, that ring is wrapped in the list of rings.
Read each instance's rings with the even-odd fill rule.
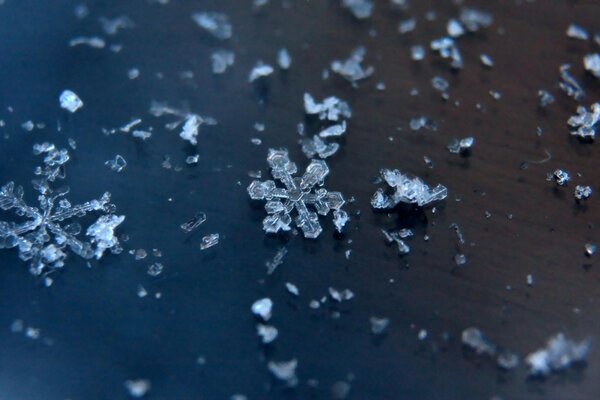
[[[530,375],[549,375],[584,362],[590,350],[588,339],[575,342],[558,333],[548,340],[546,347],[530,353],[525,358]]]

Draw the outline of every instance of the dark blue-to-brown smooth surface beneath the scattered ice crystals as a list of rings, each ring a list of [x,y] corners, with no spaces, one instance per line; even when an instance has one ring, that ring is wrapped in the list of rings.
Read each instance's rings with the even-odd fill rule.
[[[600,98],[598,80],[585,76],[581,66],[593,45],[564,34],[571,22],[598,28],[600,6],[469,1],[493,12],[495,23],[460,39],[466,67],[451,73],[429,53],[415,64],[409,48],[442,35],[458,8],[449,1],[413,3],[410,12],[401,13],[377,2],[374,17],[359,22],[337,1],[297,1],[285,9],[272,0],[260,12],[249,1],[172,0],[165,6],[90,1],[90,16],[78,21],[72,1],[7,0],[0,7],[0,118],[6,121],[0,182],[25,185],[33,202],[28,183],[39,160],[32,144],[66,146],[72,137],[78,149],[68,165],[69,198],[80,202],[110,191],[127,216],[120,230],[130,237],[126,251],[157,248],[163,256],[135,261],[127,252],[107,255],[91,269],[71,256],[53,275],[54,284],[44,288],[15,251],[0,252],[0,399],[121,399],[127,398],[123,382],[136,378],[151,380],[151,399],[228,399],[234,393],[249,399],[327,399],[331,385],[349,374],[352,399],[598,398],[600,275],[583,245],[598,241],[600,196],[595,193],[585,206],[572,196],[575,184],[600,189],[598,149],[569,137],[565,121],[576,103],[555,85],[558,67],[572,63],[588,92],[584,103]],[[430,9],[437,11],[437,21],[424,20]],[[190,19],[200,10],[227,13],[234,38],[218,42],[200,31]],[[121,14],[136,23],[133,30],[106,37],[123,44],[121,52],[68,47],[75,36],[103,35],[98,17]],[[399,36],[397,23],[407,16],[418,17],[417,29]],[[369,35],[371,29],[376,36]],[[358,89],[337,76],[321,79],[332,59],[347,57],[359,44],[367,47],[373,77]],[[281,46],[292,54],[291,70],[248,84],[256,60],[274,63]],[[236,62],[213,76],[209,55],[221,47],[234,50]],[[483,52],[494,59],[493,69],[481,67]],[[127,78],[132,67],[141,71],[133,81]],[[181,79],[183,71],[192,71],[193,79]],[[431,88],[434,75],[449,80],[459,106],[442,101]],[[380,81],[387,90],[375,90]],[[85,102],[74,115],[58,107],[65,88]],[[413,88],[418,96],[410,95]],[[537,108],[540,88],[557,97],[544,112]],[[490,90],[500,91],[502,99],[494,101]],[[304,119],[305,91],[317,99],[339,96],[354,111],[341,151],[328,160],[326,182],[355,196],[348,209],[361,212],[343,240],[334,238],[329,220],[322,220],[325,230],[316,241],[266,237],[264,212],[252,207],[245,191],[249,170],[263,169],[265,176],[269,147],[287,147],[301,169],[306,166],[295,132]],[[169,118],[147,113],[152,100],[187,104],[219,121],[201,131],[197,166],[185,165],[195,150],[164,129]],[[477,103],[484,112],[476,110]],[[408,121],[418,115],[434,118],[438,130],[410,131]],[[142,127],[154,126],[149,141],[102,134],[101,128],[119,127],[132,117],[143,118]],[[47,128],[25,132],[20,125],[29,119]],[[265,132],[254,131],[257,121],[266,124]],[[468,135],[476,138],[471,157],[446,151],[451,138]],[[252,145],[252,137],[263,144]],[[519,168],[524,160],[543,159],[544,149],[552,154],[548,163]],[[128,162],[120,174],[103,165],[116,154]],[[183,170],[162,168],[165,155]],[[433,159],[434,169],[424,165],[423,155]],[[374,214],[368,200],[382,167],[443,183],[448,200],[435,214]],[[575,176],[568,188],[555,190],[545,181],[555,168]],[[179,224],[199,210],[207,221],[185,235]],[[453,222],[467,241],[462,251],[468,263],[460,269],[453,261],[456,238],[448,229]],[[399,258],[385,246],[380,229],[405,226],[416,237],[408,242],[411,254]],[[221,234],[221,243],[201,252],[201,237],[212,232]],[[284,244],[289,249],[284,264],[267,276],[265,261]],[[146,274],[154,261],[165,265],[157,278]],[[535,278],[532,288],[527,274]],[[286,293],[286,281],[300,288],[300,297]],[[138,284],[150,296],[138,298]],[[356,297],[311,310],[309,301],[329,286],[348,287]],[[154,298],[157,292],[162,298]],[[255,337],[249,311],[262,296],[274,300],[272,323],[280,332],[267,348]],[[332,318],[334,311],[339,319]],[[386,336],[370,334],[371,315],[391,318]],[[15,319],[40,328],[42,339],[11,333]],[[470,326],[521,356],[558,331],[575,339],[589,336],[594,347],[587,366],[531,380],[523,366],[506,373],[464,352],[460,333]],[[424,341],[417,339],[420,329],[428,331]],[[206,365],[197,365],[199,356]],[[292,357],[299,360],[300,385],[285,389],[272,379],[266,361]],[[306,385],[311,378],[318,388]]]

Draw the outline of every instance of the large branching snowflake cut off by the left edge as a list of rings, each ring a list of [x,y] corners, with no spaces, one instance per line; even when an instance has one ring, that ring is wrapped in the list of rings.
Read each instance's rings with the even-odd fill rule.
[[[110,204],[110,193],[106,192],[97,200],[80,205],[71,205],[65,198],[68,188],[53,189],[50,184],[56,179],[64,179],[64,165],[69,161],[65,149],[57,149],[53,144],[34,145],[36,155],[44,155],[44,165],[37,167],[33,187],[39,193],[39,208],[27,205],[23,200],[23,187],[9,182],[0,188],[0,209],[13,211],[25,222],[0,221],[0,249],[18,248],[19,257],[30,261],[30,272],[41,275],[64,266],[66,251],[84,259],[100,259],[105,250],[119,253],[122,249],[114,235],[114,229],[123,222],[124,216],[114,215],[114,205]],[[100,211],[105,214],[86,231],[89,242],[77,238],[81,225],[62,222],[71,218],[81,218],[86,214]]]

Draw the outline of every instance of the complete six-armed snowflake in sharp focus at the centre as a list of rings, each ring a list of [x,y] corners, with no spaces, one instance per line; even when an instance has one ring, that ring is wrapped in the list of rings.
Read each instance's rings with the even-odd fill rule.
[[[253,181],[248,186],[248,194],[253,200],[267,200],[265,210],[269,215],[263,220],[263,229],[267,233],[289,231],[292,223],[290,214],[296,209],[296,226],[305,237],[317,238],[323,231],[317,213],[327,215],[334,210],[335,217],[343,212],[340,208],[345,202],[340,192],[315,188],[316,185],[322,186],[329,174],[327,164],[323,160],[312,160],[302,177],[293,177],[298,169],[290,161],[287,150],[270,149],[267,161],[273,178],[281,181],[285,188],[278,188],[272,180]],[[317,212],[310,211],[308,206],[314,207]]]

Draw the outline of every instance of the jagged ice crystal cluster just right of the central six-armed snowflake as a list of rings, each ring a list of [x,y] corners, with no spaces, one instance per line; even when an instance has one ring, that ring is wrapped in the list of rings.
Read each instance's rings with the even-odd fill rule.
[[[430,188],[420,178],[402,174],[397,169],[382,169],[381,176],[394,191],[388,195],[383,189],[377,189],[371,197],[373,208],[391,209],[399,203],[424,207],[434,201],[444,200],[448,196],[448,189],[445,186],[438,184]]]

